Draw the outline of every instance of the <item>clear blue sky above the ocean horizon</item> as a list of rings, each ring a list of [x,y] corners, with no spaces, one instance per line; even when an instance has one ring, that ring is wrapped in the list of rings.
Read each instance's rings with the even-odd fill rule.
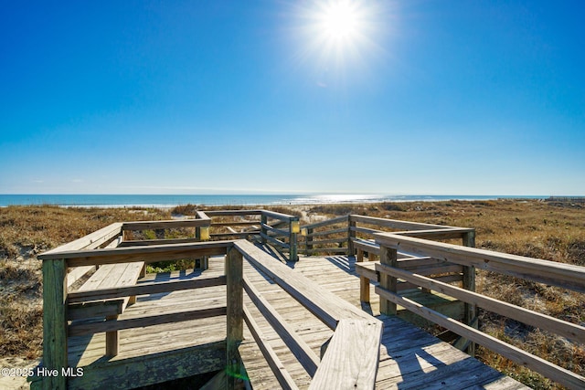
[[[345,1],[0,2],[0,193],[585,195],[585,5]]]

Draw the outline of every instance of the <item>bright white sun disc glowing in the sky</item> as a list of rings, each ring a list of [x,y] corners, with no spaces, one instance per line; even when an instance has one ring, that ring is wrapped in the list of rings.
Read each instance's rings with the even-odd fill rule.
[[[359,12],[353,3],[348,1],[330,3],[324,7],[321,19],[323,33],[330,39],[353,39],[358,34]]]

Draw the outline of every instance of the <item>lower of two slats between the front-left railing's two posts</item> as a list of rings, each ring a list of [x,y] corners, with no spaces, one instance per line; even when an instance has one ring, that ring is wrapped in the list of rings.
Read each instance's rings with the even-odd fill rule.
[[[101,332],[121,331],[122,329],[142,328],[144,326],[160,325],[163,323],[190,321],[201,318],[226,315],[226,307],[201,309],[197,311],[179,311],[159,315],[149,315],[139,318],[130,318],[116,321],[101,321],[69,325],[70,336],[83,336]]]

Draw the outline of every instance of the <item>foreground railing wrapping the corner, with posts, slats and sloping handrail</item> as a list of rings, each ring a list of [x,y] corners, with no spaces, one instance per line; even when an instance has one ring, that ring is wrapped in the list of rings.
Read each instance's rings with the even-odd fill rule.
[[[271,215],[276,218],[283,216]],[[197,221],[197,222],[194,222]],[[178,221],[184,227],[209,226],[204,217],[196,220]],[[206,225],[207,224],[207,225]],[[359,388],[374,388],[378,369],[378,351],[382,335],[380,321],[369,316],[366,312],[356,309],[353,305],[324,290],[302,275],[291,272],[291,269],[270,255],[256,248],[246,240],[236,241],[209,241],[209,242],[179,242],[163,245],[149,240],[148,245],[118,248],[101,248],[119,240],[122,242],[124,227],[126,230],[162,229],[176,227],[169,221],[150,223],[112,224],[88,237],[80,238],[63,247],[50,250],[39,256],[43,261],[43,367],[47,370],[57,370],[57,375],[41,378],[42,385],[47,389],[67,388],[67,376],[62,369],[68,367],[68,343],[71,336],[90,335],[100,332],[118,332],[144,326],[158,325],[177,321],[189,321],[216,316],[227,317],[226,342],[217,343],[209,348],[215,348],[213,353],[225,353],[225,367],[227,371],[227,388],[237,387],[237,378],[241,364],[239,364],[239,343],[243,338],[243,322],[245,321],[254,334],[254,338],[261,346],[268,364],[285,388],[295,388],[290,375],[270,346],[265,343],[260,328],[250,311],[243,306],[243,291],[259,308],[262,315],[272,324],[282,336],[284,342],[307,373],[314,378],[311,388],[322,388],[323,384],[356,383]],[[158,240],[157,240],[158,241]],[[166,240],[165,240],[166,241]],[[127,244],[126,244],[127,245]],[[84,267],[99,267],[106,264],[120,264],[144,262],[152,263],[181,258],[225,255],[225,275],[215,278],[197,278],[166,282],[144,282],[138,285],[112,287],[90,291],[74,291],[68,289],[69,269]],[[261,297],[254,286],[243,278],[243,258],[250,264],[261,269],[265,275],[274,280],[313,312],[317,318],[334,330],[333,340],[329,343],[328,351],[324,353],[323,361],[298,337],[290,325],[283,321],[271,305]],[[69,306],[84,302],[97,302],[120,299],[144,294],[172,292],[176,290],[193,290],[213,286],[226,285],[226,305],[205,309],[193,309],[180,312],[163,312],[156,315],[143,315],[124,319],[108,319],[105,321],[72,321],[69,323]],[[356,345],[367,346],[356,353]],[[344,364],[352,370],[337,370],[337,364]],[[202,363],[203,364],[203,363]],[[198,366],[199,372],[216,371],[218,367],[211,364],[209,367]],[[217,364],[217,363],[215,363]],[[340,374],[342,373],[342,374]],[[341,382],[340,382],[341,381]],[[353,382],[352,382],[353,381]]]

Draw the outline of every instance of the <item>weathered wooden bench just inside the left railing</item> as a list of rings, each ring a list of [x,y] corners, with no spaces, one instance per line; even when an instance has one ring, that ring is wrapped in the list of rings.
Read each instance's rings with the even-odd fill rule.
[[[87,279],[77,290],[99,291],[116,287],[133,286],[142,274],[144,262],[106,264],[102,265]],[[69,284],[69,283],[68,283]],[[136,297],[124,297],[111,300],[94,299],[90,295],[83,302],[69,303],[68,320],[83,321],[104,318],[117,320],[118,316],[126,309],[126,306],[133,304]],[[115,356],[118,354],[118,331],[106,332],[106,355]]]

